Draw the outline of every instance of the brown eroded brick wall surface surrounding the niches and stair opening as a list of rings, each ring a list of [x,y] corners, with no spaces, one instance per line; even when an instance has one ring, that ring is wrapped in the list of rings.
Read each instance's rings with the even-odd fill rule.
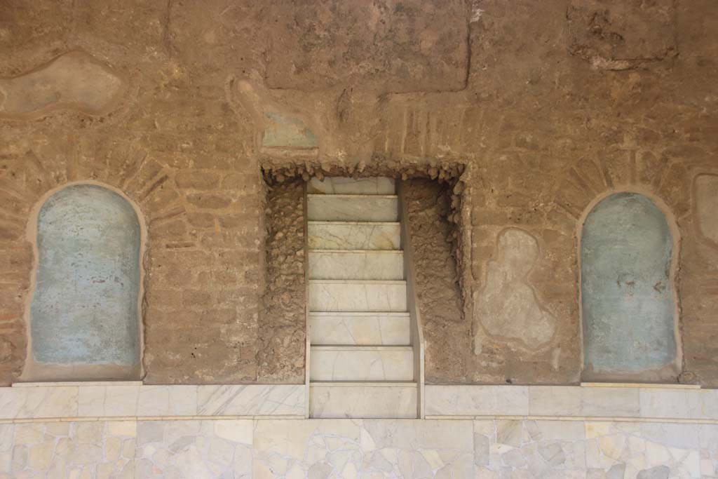
[[[412,177],[454,162],[471,327],[432,331],[437,381],[579,381],[577,223],[640,187],[681,237],[681,381],[717,385],[716,29],[710,0],[5,2],[0,380],[24,362],[24,232],[54,187],[103,182],[145,217],[147,382],[291,382],[295,363],[261,353],[260,166]],[[516,245],[533,266],[503,282]],[[502,285],[551,326],[497,330]]]

